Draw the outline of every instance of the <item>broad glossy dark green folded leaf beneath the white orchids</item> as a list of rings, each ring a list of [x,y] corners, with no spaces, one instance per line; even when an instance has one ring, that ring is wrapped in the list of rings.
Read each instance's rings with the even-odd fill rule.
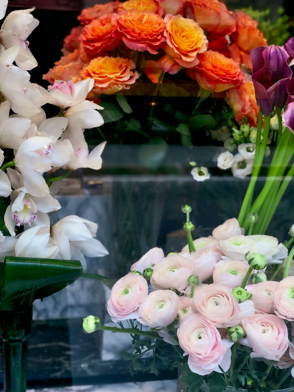
[[[0,309],[18,311],[73,283],[80,261],[6,256],[0,263]]]

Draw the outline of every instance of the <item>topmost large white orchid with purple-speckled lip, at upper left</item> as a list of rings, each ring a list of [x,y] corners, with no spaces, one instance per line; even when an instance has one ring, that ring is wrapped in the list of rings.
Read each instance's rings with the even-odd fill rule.
[[[15,58],[16,65],[26,70],[33,69],[38,65],[28,48],[29,42],[26,40],[39,24],[39,21],[30,14],[31,11],[34,11],[34,8],[10,12],[0,30],[0,43],[5,49],[13,46],[18,47],[19,51]]]

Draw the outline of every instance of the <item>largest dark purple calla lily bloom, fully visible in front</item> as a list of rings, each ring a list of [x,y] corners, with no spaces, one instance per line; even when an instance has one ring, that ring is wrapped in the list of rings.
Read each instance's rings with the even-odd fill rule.
[[[274,107],[282,109],[287,100],[286,85],[292,76],[287,52],[277,45],[259,46],[250,52],[256,102],[264,116]]]

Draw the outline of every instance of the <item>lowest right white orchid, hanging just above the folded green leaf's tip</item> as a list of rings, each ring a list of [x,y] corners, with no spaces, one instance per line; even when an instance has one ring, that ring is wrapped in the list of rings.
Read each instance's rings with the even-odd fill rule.
[[[98,257],[108,254],[102,243],[96,240],[98,225],[76,215],[62,218],[51,226],[51,237],[59,248],[56,258],[80,260],[85,267],[85,256]]]

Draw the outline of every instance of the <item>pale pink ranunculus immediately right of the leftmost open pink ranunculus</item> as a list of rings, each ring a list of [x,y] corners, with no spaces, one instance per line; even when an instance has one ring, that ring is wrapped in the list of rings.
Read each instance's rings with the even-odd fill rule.
[[[152,291],[140,305],[137,320],[151,328],[167,327],[176,319],[179,302],[172,290]]]

